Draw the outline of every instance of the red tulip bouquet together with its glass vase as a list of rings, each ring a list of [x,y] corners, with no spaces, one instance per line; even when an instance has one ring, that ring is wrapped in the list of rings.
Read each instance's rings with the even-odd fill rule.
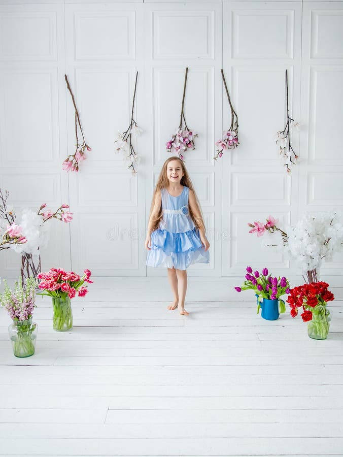
[[[330,311],[326,305],[334,300],[334,296],[328,286],[326,282],[312,282],[293,287],[287,299],[291,316],[297,316],[299,308],[302,308],[300,316],[304,322],[308,322],[308,336],[317,340],[325,339],[329,332]]]

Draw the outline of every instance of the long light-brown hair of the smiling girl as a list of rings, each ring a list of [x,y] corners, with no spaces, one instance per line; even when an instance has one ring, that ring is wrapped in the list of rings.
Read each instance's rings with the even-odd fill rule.
[[[198,220],[195,217],[195,215],[193,214],[193,211],[191,210],[190,207],[189,207],[189,215],[192,218],[192,220],[193,220],[193,222],[194,222],[194,224],[195,224],[195,226],[197,228],[200,228],[200,227],[204,228],[201,207],[200,207],[197,195],[195,193],[192,181],[191,181],[191,179],[189,177],[189,174],[188,174],[188,172],[186,170],[184,162],[179,157],[176,157],[176,156],[167,158],[166,161],[164,162],[163,166],[162,166],[161,173],[160,173],[160,175],[158,177],[158,181],[156,183],[154,195],[153,195],[153,198],[152,198],[152,203],[151,203],[151,208],[150,208],[150,216],[151,216],[152,210],[154,208],[155,199],[156,199],[156,193],[158,191],[160,191],[161,189],[166,189],[167,187],[169,187],[169,180],[168,180],[168,176],[167,176],[167,167],[168,167],[169,162],[172,161],[172,160],[178,160],[180,162],[180,165],[181,165],[181,168],[182,168],[182,172],[183,172],[183,177],[181,178],[181,182],[180,183],[181,183],[181,185],[188,187],[190,190],[193,190],[194,195],[195,195],[196,204],[197,204],[197,207],[198,207],[198,211],[199,211],[200,216],[201,216],[201,220]],[[154,221],[154,225],[152,227],[152,231],[154,231],[154,230],[156,230],[158,228],[160,220],[162,219],[162,217],[163,217],[163,214],[162,214],[162,205],[161,205],[161,207],[159,209],[159,212],[158,212],[158,216],[157,216],[156,220]]]

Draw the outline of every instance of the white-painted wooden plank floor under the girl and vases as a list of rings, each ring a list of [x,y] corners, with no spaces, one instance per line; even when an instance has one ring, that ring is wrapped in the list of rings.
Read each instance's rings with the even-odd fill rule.
[[[342,456],[343,288],[315,341],[227,283],[190,278],[180,316],[165,278],[95,278],[66,333],[38,298],[24,359],[1,309],[0,455]]]

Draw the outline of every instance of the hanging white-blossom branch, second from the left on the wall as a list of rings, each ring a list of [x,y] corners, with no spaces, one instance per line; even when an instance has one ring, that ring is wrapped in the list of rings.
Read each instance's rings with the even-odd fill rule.
[[[134,92],[133,92],[133,100],[132,100],[132,109],[131,109],[131,121],[125,132],[120,133],[117,139],[114,141],[116,144],[116,153],[122,152],[123,158],[126,162],[128,162],[127,168],[130,170],[132,175],[137,174],[137,166],[141,160],[141,156],[137,154],[135,151],[132,138],[137,138],[143,132],[143,129],[138,126],[137,122],[133,118],[133,111],[134,111],[134,101],[136,97],[136,88],[137,88],[137,78],[138,72],[136,72],[136,80],[134,83]]]

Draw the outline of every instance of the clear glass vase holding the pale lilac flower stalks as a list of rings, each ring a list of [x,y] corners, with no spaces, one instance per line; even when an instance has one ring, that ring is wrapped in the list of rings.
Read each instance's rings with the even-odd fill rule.
[[[16,357],[29,357],[35,353],[37,323],[27,320],[13,320],[8,328],[13,353]]]

